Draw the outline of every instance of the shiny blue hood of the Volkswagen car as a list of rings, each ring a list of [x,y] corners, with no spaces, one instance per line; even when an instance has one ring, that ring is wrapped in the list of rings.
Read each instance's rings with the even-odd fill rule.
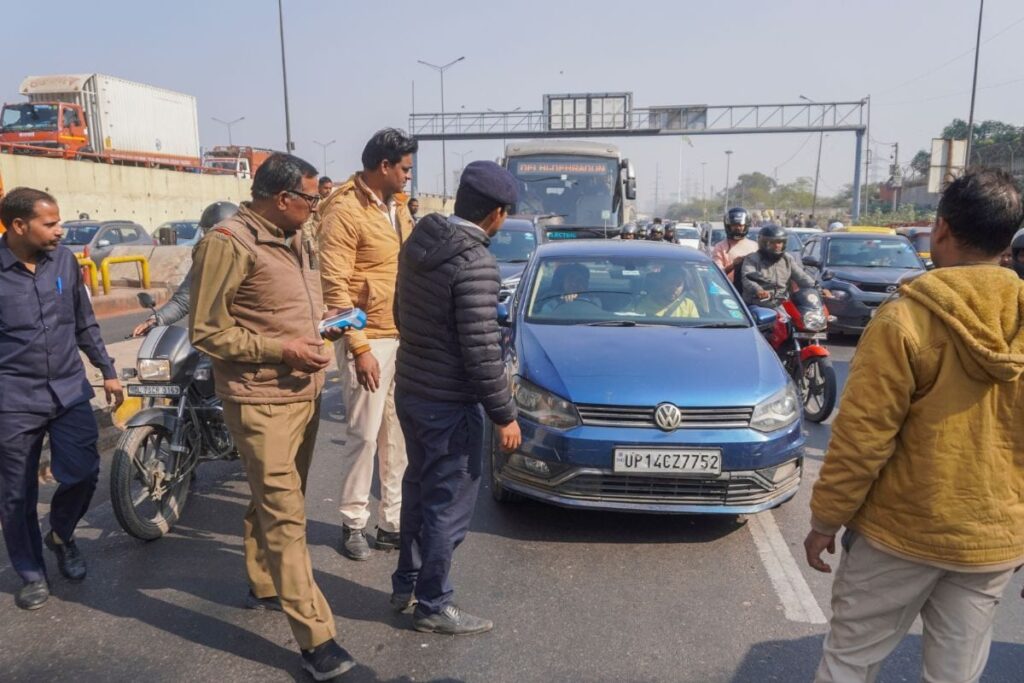
[[[522,324],[516,348],[520,376],[577,403],[754,405],[787,382],[757,328]]]

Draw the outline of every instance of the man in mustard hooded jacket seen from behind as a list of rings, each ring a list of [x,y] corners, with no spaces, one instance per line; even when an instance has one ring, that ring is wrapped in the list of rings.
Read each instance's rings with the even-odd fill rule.
[[[807,561],[831,568],[817,681],[872,681],[918,614],[927,681],[977,681],[1024,564],[1024,284],[998,266],[1024,219],[1008,174],[943,193],[938,269],[879,309],[850,369],[811,499]]]

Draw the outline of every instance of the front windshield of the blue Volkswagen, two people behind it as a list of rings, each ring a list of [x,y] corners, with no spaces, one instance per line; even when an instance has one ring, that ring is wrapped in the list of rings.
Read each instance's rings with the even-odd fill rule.
[[[679,258],[547,258],[534,270],[526,321],[545,325],[750,327],[712,263]]]

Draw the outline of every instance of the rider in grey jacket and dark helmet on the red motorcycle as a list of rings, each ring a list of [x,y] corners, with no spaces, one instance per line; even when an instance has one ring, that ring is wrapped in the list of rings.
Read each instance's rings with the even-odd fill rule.
[[[785,251],[785,228],[765,225],[758,232],[757,251],[743,258],[740,269],[743,300],[749,304],[774,308],[790,298],[790,288],[796,283],[800,289],[817,288],[817,283]],[[823,292],[828,297],[829,293]]]

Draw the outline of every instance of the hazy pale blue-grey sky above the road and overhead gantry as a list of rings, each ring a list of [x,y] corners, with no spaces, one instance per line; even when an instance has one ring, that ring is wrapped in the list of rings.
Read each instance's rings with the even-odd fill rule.
[[[275,0],[4,5],[5,26],[26,27],[4,32],[5,100],[20,99],[28,75],[101,72],[196,95],[205,146],[226,142],[211,117],[244,116],[237,143],[284,147]],[[69,20],[43,31],[47,16]],[[555,92],[629,91],[637,106],[870,95],[878,177],[888,173],[888,143],[899,143],[905,164],[949,120],[967,119],[977,16],[976,0],[285,0],[292,136],[317,168],[313,140],[337,139],[327,171],[345,177],[376,129],[408,126],[414,82],[416,110],[438,111],[437,75],[416,60],[465,55],[445,76],[450,112],[540,109]],[[976,119],[1024,124],[1024,3],[988,0],[982,40]],[[814,134],[690,141],[684,194],[699,196],[702,161],[708,194],[722,187],[727,148],[733,180],[776,166],[782,182],[814,174]],[[663,201],[675,196],[678,138],[618,142],[636,164],[642,207],[655,175]],[[462,158],[496,159],[501,142],[453,142],[447,152],[451,173]],[[853,133],[824,139],[821,194],[852,181],[853,155]],[[437,142],[423,145],[419,182],[421,191],[440,187]]]

